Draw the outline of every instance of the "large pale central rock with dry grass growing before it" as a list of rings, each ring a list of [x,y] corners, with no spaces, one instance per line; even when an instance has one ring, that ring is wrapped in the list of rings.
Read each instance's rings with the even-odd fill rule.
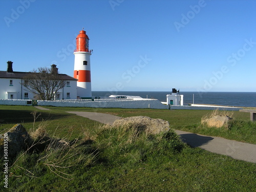
[[[116,120],[113,126],[124,126],[136,128],[139,131],[144,131],[148,134],[159,134],[170,130],[168,121],[162,119],[152,119],[146,116],[126,117]]]

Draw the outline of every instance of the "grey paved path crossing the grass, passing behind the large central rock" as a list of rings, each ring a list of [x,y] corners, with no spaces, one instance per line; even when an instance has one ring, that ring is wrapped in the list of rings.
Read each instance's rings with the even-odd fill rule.
[[[121,117],[95,112],[67,112],[86,117],[101,123],[112,124]],[[181,139],[192,147],[200,147],[206,151],[227,155],[233,159],[239,159],[256,163],[256,145],[224,139],[221,137],[205,136],[195,133],[175,130]]]

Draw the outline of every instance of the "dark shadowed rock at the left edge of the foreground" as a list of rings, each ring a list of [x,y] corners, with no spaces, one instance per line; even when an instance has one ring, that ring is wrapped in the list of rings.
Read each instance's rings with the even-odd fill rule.
[[[23,149],[26,149],[31,139],[24,126],[16,124],[8,132],[0,135],[0,141],[1,156],[4,153],[4,144],[6,144],[4,142],[8,141],[8,158],[12,158]]]

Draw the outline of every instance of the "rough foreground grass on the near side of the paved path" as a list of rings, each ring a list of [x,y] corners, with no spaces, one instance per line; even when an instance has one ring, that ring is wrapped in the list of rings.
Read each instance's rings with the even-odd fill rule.
[[[9,170],[10,191],[254,190],[255,164],[190,148],[173,130],[148,135],[136,127],[104,127],[57,110],[51,115],[44,127],[54,133],[57,126],[61,131],[55,134],[68,134],[71,144],[55,149],[49,146],[39,153],[20,153]],[[33,124],[40,124],[33,118],[25,121],[31,129]],[[81,127],[84,124],[87,126]],[[3,174],[0,179],[3,181]],[[4,188],[3,182],[0,188]]]

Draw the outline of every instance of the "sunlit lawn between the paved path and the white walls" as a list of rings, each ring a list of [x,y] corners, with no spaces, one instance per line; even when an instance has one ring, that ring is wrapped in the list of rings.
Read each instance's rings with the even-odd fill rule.
[[[237,140],[256,144],[256,123],[250,121],[250,114],[234,111],[232,118],[236,123],[227,130],[225,128],[212,129],[200,125],[201,118],[211,113],[208,110],[152,110],[152,109],[95,109],[95,108],[56,108],[48,107],[53,112],[65,114],[66,111],[87,111],[108,113],[120,117],[148,116],[168,121],[170,127],[176,130],[198,133],[207,136],[217,136],[226,139]],[[53,113],[52,112],[52,113]],[[49,114],[49,112],[48,112]],[[78,118],[74,116],[74,118]],[[84,119],[84,118],[83,118]]]

